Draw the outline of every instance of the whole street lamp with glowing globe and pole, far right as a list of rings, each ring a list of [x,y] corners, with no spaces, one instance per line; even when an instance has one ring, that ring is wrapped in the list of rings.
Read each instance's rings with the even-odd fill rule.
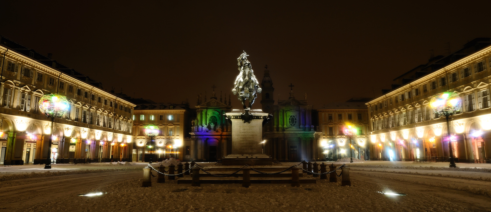
[[[450,141],[450,124],[448,122],[449,116],[453,115],[456,110],[459,110],[462,106],[462,99],[459,94],[444,92],[433,96],[430,101],[430,106],[438,115],[445,116],[447,120],[447,141],[448,151],[450,152],[448,159],[450,160],[449,167],[457,167],[452,152],[452,142]]]

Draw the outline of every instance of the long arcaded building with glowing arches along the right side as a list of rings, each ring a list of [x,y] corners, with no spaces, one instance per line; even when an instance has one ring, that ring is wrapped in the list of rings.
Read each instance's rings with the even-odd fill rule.
[[[393,89],[366,103],[372,131],[370,158],[448,159],[446,120],[429,105],[432,96],[448,91],[462,98],[462,107],[450,116],[454,157],[459,162],[490,159],[490,65],[491,39],[476,38],[394,79]]]

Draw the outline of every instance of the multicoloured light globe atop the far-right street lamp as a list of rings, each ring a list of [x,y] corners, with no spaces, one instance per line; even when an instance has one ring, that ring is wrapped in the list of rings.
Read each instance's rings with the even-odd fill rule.
[[[459,94],[444,92],[433,96],[430,106],[439,115],[452,115],[455,110],[460,110],[462,99]]]

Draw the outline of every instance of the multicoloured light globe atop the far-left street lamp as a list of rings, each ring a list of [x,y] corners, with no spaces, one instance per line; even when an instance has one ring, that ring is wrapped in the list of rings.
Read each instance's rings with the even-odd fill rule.
[[[68,100],[64,96],[47,94],[39,100],[39,110],[46,116],[61,117],[68,111]]]

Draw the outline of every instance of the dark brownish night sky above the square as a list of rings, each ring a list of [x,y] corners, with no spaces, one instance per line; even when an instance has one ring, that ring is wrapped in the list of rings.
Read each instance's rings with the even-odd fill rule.
[[[45,3],[45,2],[50,2]],[[245,50],[259,81],[268,64],[274,100],[309,104],[373,97],[430,57],[491,37],[490,2],[3,1],[0,33],[101,81],[110,90],[180,103],[231,93]],[[190,1],[191,2],[191,1]],[[228,98],[228,97],[227,97]],[[237,98],[232,105],[239,106]],[[260,107],[259,102],[253,107]]]

